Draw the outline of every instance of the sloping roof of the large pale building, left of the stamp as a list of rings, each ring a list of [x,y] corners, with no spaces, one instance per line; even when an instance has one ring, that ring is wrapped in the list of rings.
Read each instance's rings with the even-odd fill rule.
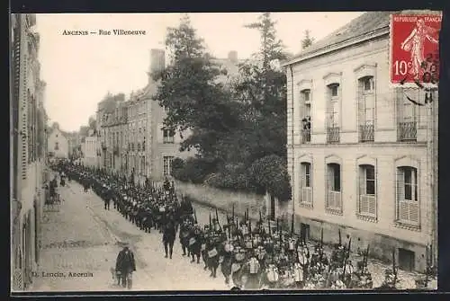
[[[396,12],[367,12],[348,22],[337,31],[331,32],[325,38],[311,44],[293,58],[286,60],[283,65],[290,65],[306,57],[314,57],[320,51],[327,51],[332,46],[350,42],[357,38],[364,39],[367,33],[388,29],[391,22],[391,14]]]

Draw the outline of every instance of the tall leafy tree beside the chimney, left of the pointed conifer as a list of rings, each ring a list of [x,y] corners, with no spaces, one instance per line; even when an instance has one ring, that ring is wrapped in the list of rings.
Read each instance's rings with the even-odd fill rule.
[[[214,156],[216,142],[235,128],[236,111],[229,105],[229,93],[214,82],[220,74],[205,52],[189,17],[177,28],[168,28],[166,48],[172,63],[153,78],[160,81],[154,100],[168,109],[165,126],[180,132],[191,129],[182,150],[197,148],[204,156]]]

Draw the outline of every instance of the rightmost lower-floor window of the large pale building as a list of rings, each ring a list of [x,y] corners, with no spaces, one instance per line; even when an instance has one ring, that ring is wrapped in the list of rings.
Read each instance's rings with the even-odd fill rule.
[[[397,219],[419,224],[419,190],[417,169],[401,166],[397,169]]]

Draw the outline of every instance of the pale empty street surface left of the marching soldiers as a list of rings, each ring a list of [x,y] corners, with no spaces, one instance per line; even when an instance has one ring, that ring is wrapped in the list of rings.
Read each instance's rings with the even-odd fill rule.
[[[34,291],[121,290],[112,281],[121,243],[130,243],[135,252],[137,271],[133,290],[227,290],[218,272],[217,279],[200,264],[182,256],[175,242],[173,259],[164,257],[162,236],[157,231],[146,234],[111,208],[103,200],[77,183],[58,188],[64,202],[58,212],[45,212],[43,221],[41,266],[33,279]],[[203,210],[206,212],[206,210]],[[199,212],[199,216],[205,214]],[[41,273],[62,272],[66,277],[43,278]],[[68,273],[92,273],[90,277],[68,277]]]

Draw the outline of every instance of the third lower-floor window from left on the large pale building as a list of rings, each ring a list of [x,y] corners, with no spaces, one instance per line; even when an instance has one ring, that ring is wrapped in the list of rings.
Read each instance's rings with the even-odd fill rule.
[[[359,166],[359,204],[358,214],[376,216],[376,180],[374,165]]]

